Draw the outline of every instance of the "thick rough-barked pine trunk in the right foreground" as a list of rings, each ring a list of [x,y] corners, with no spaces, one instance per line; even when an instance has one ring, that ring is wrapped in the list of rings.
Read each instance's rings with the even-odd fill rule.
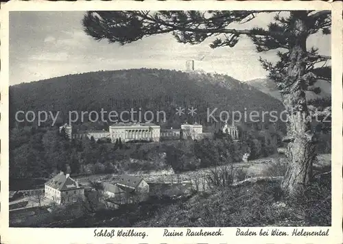
[[[289,36],[289,66],[283,95],[283,104],[288,112],[287,159],[288,168],[281,184],[283,192],[289,195],[303,193],[304,186],[312,177],[312,164],[316,157],[314,134],[311,132],[309,111],[305,98],[305,58],[307,40],[307,14],[305,11],[291,12]]]

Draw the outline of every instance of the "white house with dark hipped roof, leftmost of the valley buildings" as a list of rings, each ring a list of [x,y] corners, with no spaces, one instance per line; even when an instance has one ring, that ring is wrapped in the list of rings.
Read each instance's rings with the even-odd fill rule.
[[[70,204],[84,197],[84,188],[61,171],[45,183],[45,197],[57,204]]]

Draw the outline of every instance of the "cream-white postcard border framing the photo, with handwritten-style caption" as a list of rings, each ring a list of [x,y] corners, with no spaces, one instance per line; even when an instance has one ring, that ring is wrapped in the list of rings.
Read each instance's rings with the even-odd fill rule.
[[[332,227],[329,237],[243,237],[236,228],[221,228],[224,236],[163,238],[163,228],[135,228],[147,237],[93,237],[95,228],[8,228],[8,24],[9,11],[85,10],[332,10],[331,53],[333,64]],[[322,1],[12,1],[1,4],[1,243],[342,243],[342,3]],[[110,229],[110,228],[108,228]],[[115,228],[118,230],[119,228]],[[126,228],[121,228],[126,229]],[[127,228],[128,229],[128,228]],[[169,230],[187,228],[169,228]],[[192,228],[197,230],[200,228]],[[211,229],[211,228],[203,228]],[[217,228],[213,228],[217,229]],[[246,228],[245,228],[246,229]],[[259,232],[261,228],[250,228]],[[317,230],[318,228],[304,228]],[[323,228],[324,229],[324,228]],[[279,228],[292,232],[293,228]]]

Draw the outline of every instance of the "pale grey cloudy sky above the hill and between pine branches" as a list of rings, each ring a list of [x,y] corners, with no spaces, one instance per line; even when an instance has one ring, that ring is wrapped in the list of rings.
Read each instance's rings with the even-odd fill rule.
[[[263,78],[259,56],[275,61],[275,51],[257,53],[255,45],[241,36],[235,47],[211,49],[211,39],[200,45],[176,42],[171,34],[143,38],[128,45],[93,40],[82,30],[84,12],[10,12],[10,85],[51,77],[118,69],[185,70],[186,60],[195,69],[224,73],[242,82]],[[259,14],[245,24],[229,27],[265,27],[274,14]],[[212,39],[213,40],[213,39]],[[330,36],[313,35],[307,46],[331,55]]]

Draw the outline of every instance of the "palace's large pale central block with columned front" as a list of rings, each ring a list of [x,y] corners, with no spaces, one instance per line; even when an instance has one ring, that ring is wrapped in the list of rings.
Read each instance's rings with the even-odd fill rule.
[[[123,143],[134,140],[158,142],[161,127],[154,123],[115,123],[110,125],[109,131],[113,143],[119,138]]]

